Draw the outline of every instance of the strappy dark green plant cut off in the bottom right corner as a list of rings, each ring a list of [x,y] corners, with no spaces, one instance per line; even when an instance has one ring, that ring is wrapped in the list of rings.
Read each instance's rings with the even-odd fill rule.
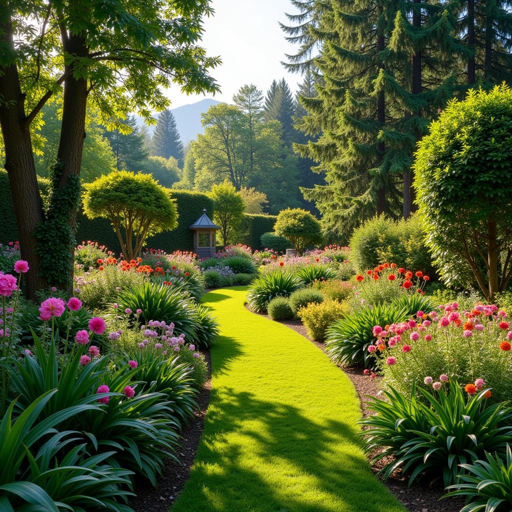
[[[460,512],[512,510],[512,451],[509,444],[505,461],[500,455],[486,453],[485,460],[462,464],[466,474],[459,475],[459,481],[448,487],[457,490],[451,490],[443,498],[465,498],[467,504]]]

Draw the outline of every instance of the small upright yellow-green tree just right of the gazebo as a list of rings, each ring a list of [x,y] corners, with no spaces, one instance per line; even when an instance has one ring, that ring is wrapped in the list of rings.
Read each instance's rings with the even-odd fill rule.
[[[242,222],[244,200],[240,192],[227,180],[212,186],[209,196],[215,201],[214,222],[221,227],[222,243],[227,245]]]

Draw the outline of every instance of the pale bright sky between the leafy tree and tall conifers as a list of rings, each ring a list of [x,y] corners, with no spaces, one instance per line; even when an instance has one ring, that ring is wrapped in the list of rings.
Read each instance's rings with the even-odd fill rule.
[[[254,83],[266,93],[275,78],[285,78],[292,91],[301,81],[288,73],[281,61],[294,47],[284,38],[279,22],[286,22],[285,12],[294,12],[289,0],[212,0],[214,16],[205,19],[201,45],[208,55],[219,55],[222,64],[211,74],[221,87],[215,96],[183,94],[179,86],[167,91],[170,108],[201,99],[215,98],[231,102],[233,94],[245,83]]]

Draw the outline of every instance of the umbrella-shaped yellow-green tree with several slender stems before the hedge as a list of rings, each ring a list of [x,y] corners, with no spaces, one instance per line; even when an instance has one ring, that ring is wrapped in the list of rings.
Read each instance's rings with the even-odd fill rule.
[[[151,176],[125,170],[88,183],[83,195],[85,214],[110,220],[127,261],[140,255],[147,237],[178,225],[175,203]]]

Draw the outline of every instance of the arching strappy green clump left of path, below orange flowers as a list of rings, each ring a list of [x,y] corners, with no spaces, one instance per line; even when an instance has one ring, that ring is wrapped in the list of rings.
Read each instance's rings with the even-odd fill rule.
[[[173,290],[166,285],[144,283],[130,290],[119,292],[117,302],[119,311],[129,309],[130,316],[147,325],[157,318],[160,321],[173,322],[175,330],[183,333],[186,339],[194,339],[198,328],[198,317],[194,304],[180,289]],[[141,310],[140,316],[136,315]]]

